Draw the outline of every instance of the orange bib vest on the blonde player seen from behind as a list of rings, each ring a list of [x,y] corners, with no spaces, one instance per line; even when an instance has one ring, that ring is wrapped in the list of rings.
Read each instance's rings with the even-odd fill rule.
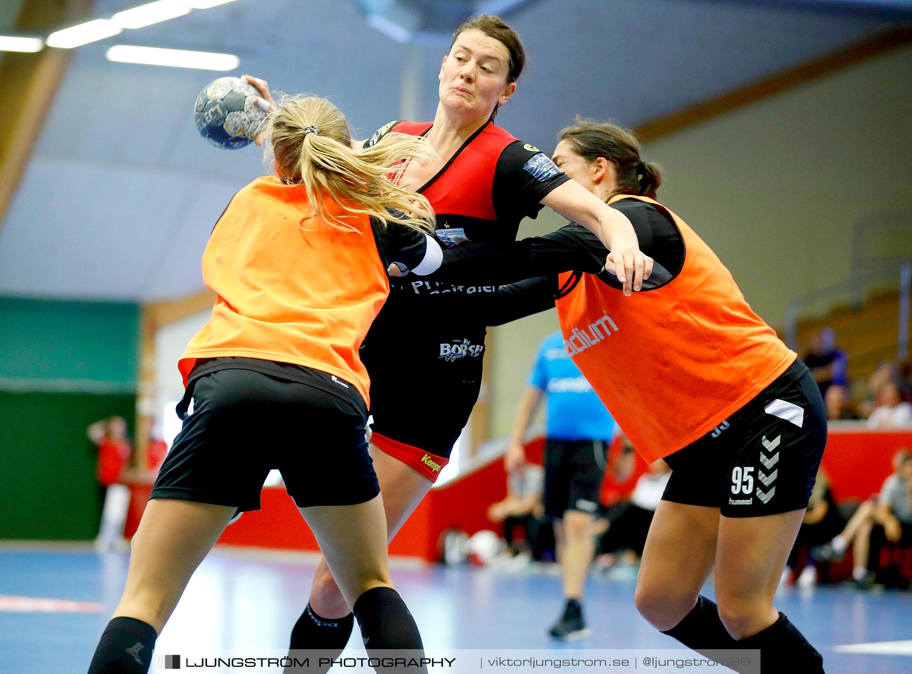
[[[389,295],[386,270],[367,216],[347,216],[344,228],[302,223],[310,213],[304,188],[275,177],[234,195],[202,254],[217,298],[178,364],[184,385],[197,358],[263,358],[337,375],[369,404],[358,348]]]

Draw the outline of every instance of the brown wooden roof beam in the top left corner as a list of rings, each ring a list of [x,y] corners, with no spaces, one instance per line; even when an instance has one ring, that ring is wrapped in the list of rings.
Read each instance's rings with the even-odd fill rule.
[[[93,0],[24,0],[13,28],[16,33],[45,34],[85,15],[92,4]],[[35,54],[7,52],[0,61],[6,117],[0,136],[0,227],[70,57],[70,49],[43,49]]]

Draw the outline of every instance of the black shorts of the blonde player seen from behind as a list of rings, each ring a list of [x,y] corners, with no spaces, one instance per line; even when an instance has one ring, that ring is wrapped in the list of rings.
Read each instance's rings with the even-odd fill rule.
[[[259,510],[260,491],[274,468],[298,507],[352,505],[377,496],[365,440],[367,409],[354,387],[347,384],[336,395],[332,387],[347,382],[310,368],[291,366],[297,380],[289,380],[251,369],[212,370],[211,363],[206,374],[192,373],[179,406],[186,410],[192,399],[192,413],[150,498]],[[311,383],[302,380],[308,377]]]

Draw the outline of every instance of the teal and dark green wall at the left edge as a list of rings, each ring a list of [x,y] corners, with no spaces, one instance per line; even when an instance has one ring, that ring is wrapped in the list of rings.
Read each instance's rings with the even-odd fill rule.
[[[93,421],[136,408],[140,307],[0,298],[0,538],[98,533]]]

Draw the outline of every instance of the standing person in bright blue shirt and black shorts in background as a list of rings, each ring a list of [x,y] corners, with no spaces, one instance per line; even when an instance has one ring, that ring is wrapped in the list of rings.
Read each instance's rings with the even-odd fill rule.
[[[554,520],[564,585],[564,614],[551,627],[554,638],[587,637],[583,585],[596,550],[593,523],[615,421],[564,349],[564,337],[544,338],[529,376],[505,457],[507,472],[525,462],[523,434],[547,399],[544,444],[544,514]]]

